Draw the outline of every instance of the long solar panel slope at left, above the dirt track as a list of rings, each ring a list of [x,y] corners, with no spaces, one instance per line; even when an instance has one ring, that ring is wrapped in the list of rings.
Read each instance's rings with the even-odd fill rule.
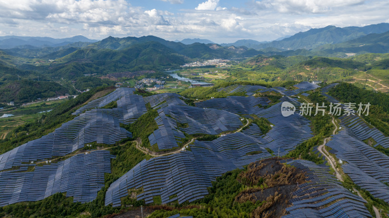
[[[117,118],[92,110],[64,123],[53,133],[29,141],[0,155],[0,170],[22,163],[65,156],[86,143],[114,144],[132,134],[120,127]]]

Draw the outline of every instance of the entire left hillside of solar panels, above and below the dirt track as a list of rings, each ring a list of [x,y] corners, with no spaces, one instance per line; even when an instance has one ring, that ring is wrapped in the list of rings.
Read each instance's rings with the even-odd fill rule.
[[[1,154],[1,205],[37,201],[56,192],[67,192],[68,196],[74,197],[74,201],[95,199],[104,184],[104,173],[110,170],[112,157],[108,151],[92,152],[86,157],[78,154],[57,164],[50,162],[54,157],[84,148],[87,143],[114,144],[132,137],[130,132],[120,127],[120,123],[131,123],[147,111],[143,98],[133,95],[134,90],[119,88],[101,99],[91,101],[76,112],[84,113],[62,124],[53,133]],[[96,108],[112,101],[117,101],[117,108]],[[36,167],[37,161],[45,165]],[[11,170],[13,168],[16,170]],[[27,168],[34,171],[27,172]]]

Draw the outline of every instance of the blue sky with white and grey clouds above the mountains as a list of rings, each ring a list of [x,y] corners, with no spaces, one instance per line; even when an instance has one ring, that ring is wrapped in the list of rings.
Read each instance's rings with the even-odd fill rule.
[[[389,22],[389,0],[0,0],[0,35],[271,41]]]

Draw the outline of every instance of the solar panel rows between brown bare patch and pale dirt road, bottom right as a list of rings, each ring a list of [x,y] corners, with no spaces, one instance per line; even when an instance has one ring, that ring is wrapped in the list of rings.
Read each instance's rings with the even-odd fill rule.
[[[306,172],[308,183],[299,184],[293,193],[290,214],[283,218],[364,218],[371,217],[366,201],[344,188],[329,173],[328,166],[307,160],[286,162]]]

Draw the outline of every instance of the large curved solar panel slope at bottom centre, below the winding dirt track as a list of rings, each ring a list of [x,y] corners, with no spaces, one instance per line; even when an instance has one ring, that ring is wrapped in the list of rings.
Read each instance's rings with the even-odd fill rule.
[[[247,155],[251,151],[260,153]],[[143,192],[137,199],[146,203],[152,203],[154,196],[160,196],[162,203],[195,201],[208,194],[207,187],[217,176],[270,156],[255,138],[242,133],[195,141],[191,151],[143,160],[110,185],[106,205],[119,206],[128,189],[140,188]]]

